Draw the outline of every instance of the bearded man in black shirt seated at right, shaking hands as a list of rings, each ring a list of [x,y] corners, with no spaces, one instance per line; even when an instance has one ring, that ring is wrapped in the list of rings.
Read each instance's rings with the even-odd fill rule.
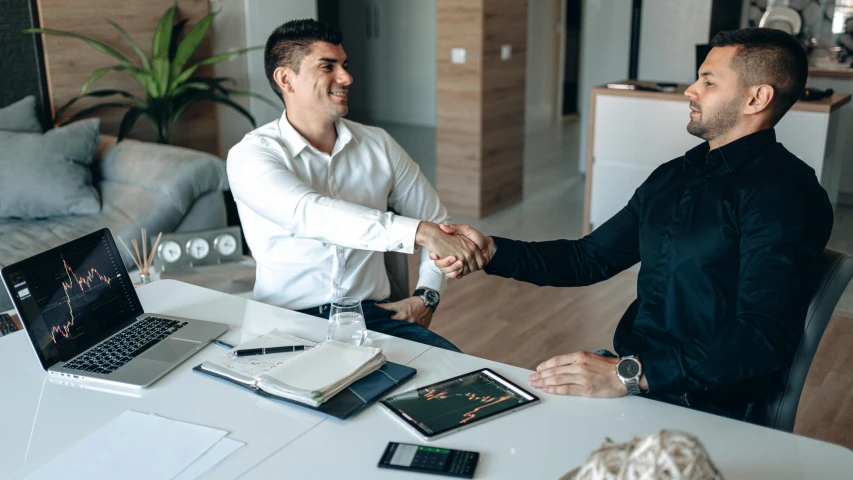
[[[722,32],[712,46],[685,91],[687,130],[706,142],[657,168],[590,235],[520,242],[444,227],[487,251],[486,273],[536,285],[590,285],[641,263],[614,336],[619,357],[554,357],[532,386],[642,393],[740,419],[780,388],[833,222],[814,170],[773,129],[805,87],[806,56],[769,28]],[[469,273],[462,259],[433,259],[450,278]]]

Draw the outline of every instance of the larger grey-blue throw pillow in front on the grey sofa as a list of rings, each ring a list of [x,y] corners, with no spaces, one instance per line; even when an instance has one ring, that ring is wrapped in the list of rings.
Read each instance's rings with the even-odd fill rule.
[[[100,212],[91,172],[100,125],[91,118],[44,134],[0,131],[0,217]]]

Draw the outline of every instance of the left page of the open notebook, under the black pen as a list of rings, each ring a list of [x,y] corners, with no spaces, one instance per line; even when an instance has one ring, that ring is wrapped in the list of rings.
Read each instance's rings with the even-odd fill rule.
[[[258,338],[249,340],[236,347],[246,348],[282,347],[287,345],[316,345],[311,340],[299,338],[281,330],[272,330]],[[311,350],[308,350],[310,352]],[[201,364],[204,370],[218,373],[244,384],[253,384],[255,379],[285,362],[298,358],[307,352],[273,353],[269,355],[251,355],[235,357],[231,352],[220,355]]]

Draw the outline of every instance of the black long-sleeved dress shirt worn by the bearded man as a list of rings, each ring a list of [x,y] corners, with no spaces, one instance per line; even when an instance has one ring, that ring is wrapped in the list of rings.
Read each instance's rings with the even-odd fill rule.
[[[640,262],[613,343],[649,392],[759,401],[791,365],[832,222],[814,170],[768,129],[661,165],[580,240],[495,238],[486,272],[575,287]]]

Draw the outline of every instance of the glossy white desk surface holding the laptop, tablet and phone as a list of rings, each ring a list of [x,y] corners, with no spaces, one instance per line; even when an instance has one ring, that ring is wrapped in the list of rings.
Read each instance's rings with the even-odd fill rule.
[[[140,288],[146,311],[227,322],[223,340],[241,341],[278,326],[322,339],[325,322],[294,312],[174,281]],[[529,371],[488,360],[431,349],[371,334],[389,359],[409,364],[418,375],[411,389],[477,368],[491,367],[526,384]],[[138,397],[127,397],[46,381],[24,333],[0,338],[0,471],[19,478],[74,440],[124,410],[157,413],[230,431],[246,446],[205,478],[401,478],[416,474],[376,468],[388,441],[420,443],[381,407],[374,405],[341,422],[289,405],[254,397],[190,371],[222,352],[210,346]],[[583,463],[601,439],[616,441],[661,428],[696,435],[732,479],[849,479],[853,452],[805,437],[646,400],[595,400],[540,395],[542,404],[439,439],[436,446],[481,453],[476,478],[559,478]],[[418,477],[420,478],[420,476]],[[424,476],[423,478],[428,478]],[[435,477],[439,478],[439,477]]]

